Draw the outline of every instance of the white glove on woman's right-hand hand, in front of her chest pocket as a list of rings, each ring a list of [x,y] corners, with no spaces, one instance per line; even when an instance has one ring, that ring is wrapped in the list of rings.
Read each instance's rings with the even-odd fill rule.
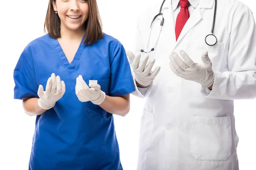
[[[89,86],[91,88],[89,88]],[[101,104],[105,100],[105,92],[100,90],[100,85],[84,82],[81,75],[76,78],[76,96],[81,102],[91,101],[95,105]]]

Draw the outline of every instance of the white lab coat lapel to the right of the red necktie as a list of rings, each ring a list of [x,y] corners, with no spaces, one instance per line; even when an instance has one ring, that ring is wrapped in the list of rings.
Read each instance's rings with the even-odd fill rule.
[[[176,46],[179,44],[179,42],[185,37],[185,35],[193,28],[198,22],[202,19],[202,13],[201,8],[212,8],[213,7],[214,0],[201,0],[198,4],[198,7],[195,9],[195,11],[192,13],[192,15],[189,17],[189,20],[187,20],[185,26],[183,27],[180,36],[176,42]],[[176,47],[175,46],[175,47]]]

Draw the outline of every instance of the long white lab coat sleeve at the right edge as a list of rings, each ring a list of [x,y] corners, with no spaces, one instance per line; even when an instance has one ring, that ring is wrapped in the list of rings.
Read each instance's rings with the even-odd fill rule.
[[[256,25],[250,9],[240,3],[233,16],[227,67],[214,71],[212,91],[202,88],[204,96],[213,99],[256,98]]]

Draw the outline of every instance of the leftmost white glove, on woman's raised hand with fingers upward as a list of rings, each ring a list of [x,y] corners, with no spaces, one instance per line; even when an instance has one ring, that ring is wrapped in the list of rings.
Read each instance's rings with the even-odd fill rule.
[[[43,109],[52,108],[55,103],[61,99],[66,91],[64,81],[61,81],[59,76],[55,77],[55,74],[52,73],[47,81],[47,85],[44,91],[44,87],[39,85],[38,88],[38,105]]]

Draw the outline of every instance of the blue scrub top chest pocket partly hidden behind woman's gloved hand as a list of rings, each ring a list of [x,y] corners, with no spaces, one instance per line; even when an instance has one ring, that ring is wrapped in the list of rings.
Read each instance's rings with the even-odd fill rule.
[[[86,82],[87,85],[89,85],[89,80],[84,80],[84,81]],[[104,91],[106,95],[109,94],[110,79],[97,80],[97,84],[100,85],[101,90]],[[91,101],[85,102],[85,103],[86,103],[85,105],[86,111],[91,117],[101,115],[106,112],[99,105],[94,105]]]

